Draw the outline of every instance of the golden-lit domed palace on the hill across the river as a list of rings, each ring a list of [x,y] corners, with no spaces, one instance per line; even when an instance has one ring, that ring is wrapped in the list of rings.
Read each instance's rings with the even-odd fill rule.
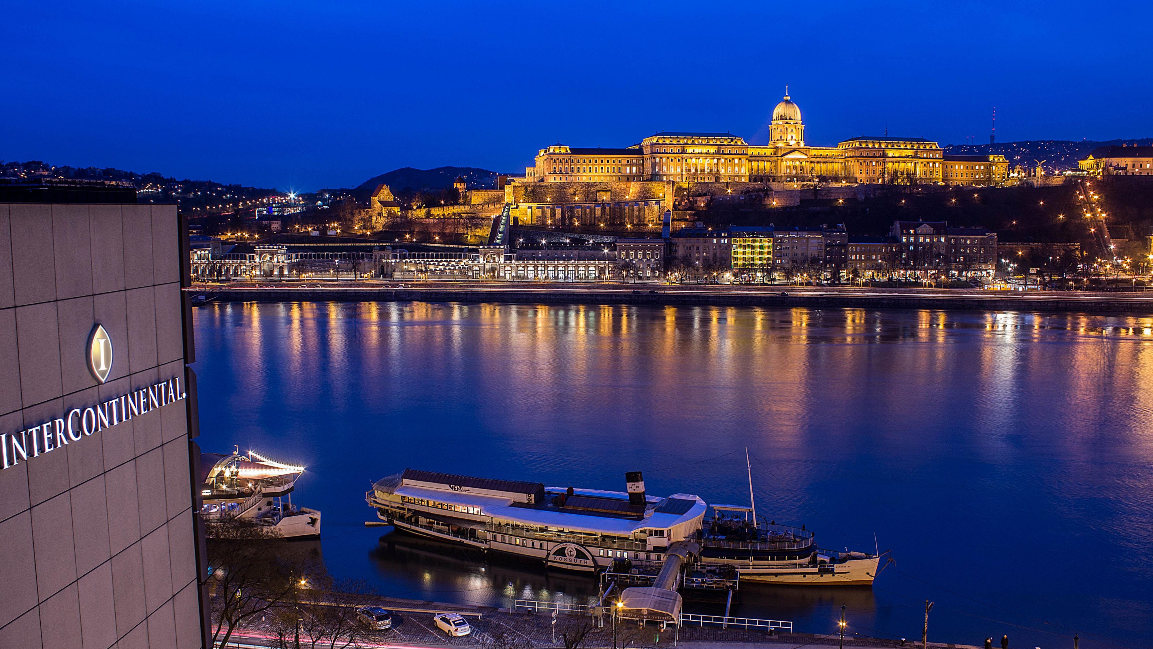
[[[861,136],[836,147],[807,146],[800,107],[786,94],[773,110],[764,146],[749,144],[732,133],[679,132],[657,133],[623,149],[553,144],[537,151],[534,166],[525,170],[525,180],[975,185],[998,184],[1008,177],[1003,156],[982,162],[989,173],[947,177],[947,166],[954,165],[947,165],[936,142],[922,137]]]

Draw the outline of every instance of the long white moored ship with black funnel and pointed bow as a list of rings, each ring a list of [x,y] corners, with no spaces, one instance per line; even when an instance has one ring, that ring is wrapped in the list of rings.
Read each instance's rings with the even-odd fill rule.
[[[876,574],[877,555],[828,552],[807,530],[753,524],[751,507],[722,505],[707,516],[698,495],[648,495],[640,471],[625,480],[615,492],[405,469],[377,480],[366,501],[398,530],[555,568],[662,564],[670,546],[688,542],[699,567],[723,566],[741,580],[867,584]]]

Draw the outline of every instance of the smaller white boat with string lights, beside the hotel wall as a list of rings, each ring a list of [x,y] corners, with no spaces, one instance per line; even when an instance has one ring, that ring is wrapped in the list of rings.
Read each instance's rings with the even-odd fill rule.
[[[202,453],[201,472],[201,517],[205,522],[238,520],[281,538],[321,536],[321,513],[292,503],[303,467],[276,462],[251,450],[241,455],[238,447],[232,455]]]

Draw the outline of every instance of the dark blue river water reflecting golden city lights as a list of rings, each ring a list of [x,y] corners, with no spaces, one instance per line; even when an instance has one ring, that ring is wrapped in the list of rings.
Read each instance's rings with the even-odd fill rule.
[[[510,605],[593,579],[366,528],[406,467],[745,503],[872,589],[744,585],[734,614],[920,641],[1153,646],[1153,319],[939,311],[210,304],[201,447],[299,462],[330,570]],[[723,606],[686,602],[688,612]]]

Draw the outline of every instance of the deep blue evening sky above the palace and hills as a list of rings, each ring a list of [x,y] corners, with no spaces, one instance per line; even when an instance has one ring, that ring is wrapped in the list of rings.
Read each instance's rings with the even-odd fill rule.
[[[5,2],[0,159],[246,185],[656,130],[1153,136],[1150,2]]]

